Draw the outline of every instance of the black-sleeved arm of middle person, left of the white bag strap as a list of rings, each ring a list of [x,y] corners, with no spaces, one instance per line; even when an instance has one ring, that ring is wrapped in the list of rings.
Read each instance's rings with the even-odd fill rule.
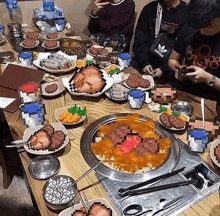
[[[150,10],[147,5],[140,14],[134,35],[133,53],[135,55],[135,59],[141,67],[141,70],[150,65],[148,51],[155,38],[154,32],[152,32],[149,27],[149,22],[152,21],[149,13]]]

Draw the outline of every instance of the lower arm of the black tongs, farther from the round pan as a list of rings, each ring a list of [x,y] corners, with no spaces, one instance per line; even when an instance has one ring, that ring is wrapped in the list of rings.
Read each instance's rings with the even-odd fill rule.
[[[188,181],[175,182],[175,183],[171,183],[171,184],[160,185],[160,186],[155,186],[155,187],[150,187],[150,188],[144,188],[144,189],[140,189],[140,190],[127,191],[124,194],[121,194],[120,196],[121,197],[134,196],[134,195],[146,194],[146,193],[151,193],[151,192],[160,191],[160,190],[166,190],[166,189],[170,189],[170,188],[194,184],[194,181],[195,180],[188,180]]]

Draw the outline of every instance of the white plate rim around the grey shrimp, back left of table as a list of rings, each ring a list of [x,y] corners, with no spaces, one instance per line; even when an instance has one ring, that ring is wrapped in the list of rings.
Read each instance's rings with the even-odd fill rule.
[[[71,61],[75,62],[75,64],[74,64],[72,67],[70,67],[70,68],[68,68],[68,69],[62,69],[62,70],[52,70],[52,69],[49,69],[49,68],[41,67],[41,66],[40,66],[40,61],[43,60],[43,59],[46,59],[46,58],[47,58],[49,55],[51,55],[51,54],[52,54],[52,53],[39,53],[38,58],[33,61],[33,64],[34,64],[36,67],[38,67],[38,68],[40,68],[40,69],[42,69],[42,70],[45,70],[45,71],[47,71],[47,72],[49,72],[49,73],[67,73],[67,72],[73,70],[73,69],[76,67],[77,56],[76,56],[76,55],[74,55],[74,56],[69,56],[69,55],[63,53],[62,51],[58,51],[57,54],[61,54],[61,55],[63,55],[64,57],[66,57],[66,58],[70,59]]]

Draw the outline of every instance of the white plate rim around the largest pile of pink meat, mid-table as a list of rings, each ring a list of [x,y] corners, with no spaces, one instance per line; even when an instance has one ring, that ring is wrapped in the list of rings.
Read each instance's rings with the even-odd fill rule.
[[[106,72],[102,71],[102,73],[103,73],[103,78],[104,78],[106,84],[105,84],[105,86],[104,86],[104,88],[102,89],[101,92],[98,92],[98,93],[95,93],[95,94],[78,93],[78,92],[75,92],[75,91],[71,91],[70,86],[69,86],[69,80],[71,79],[72,76],[62,78],[63,85],[68,89],[68,91],[71,95],[74,95],[74,96],[87,96],[87,97],[99,97],[105,91],[107,91],[109,88],[111,88],[112,85],[114,84],[114,79],[112,77],[108,76],[108,74]]]

